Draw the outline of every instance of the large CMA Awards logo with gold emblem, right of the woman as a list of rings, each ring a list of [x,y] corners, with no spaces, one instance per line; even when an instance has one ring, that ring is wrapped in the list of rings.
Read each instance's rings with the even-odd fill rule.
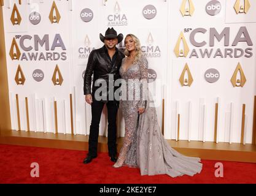
[[[193,48],[189,58],[199,58],[199,56],[201,56],[201,58],[240,58],[241,56],[251,58],[253,55],[251,46],[254,44],[252,39],[250,39],[246,26],[241,26],[236,34],[233,34],[232,31],[229,27],[225,27],[221,32],[218,32],[215,28],[209,28],[209,32],[204,28],[193,29],[193,31],[190,33],[189,39],[190,43],[197,48]],[[206,32],[209,34],[209,43],[205,40],[200,40],[200,42],[196,40],[196,37],[198,37],[197,34],[206,34]],[[235,36],[235,38],[231,38],[231,36]],[[212,48],[215,46],[216,40],[218,42],[223,42],[223,46],[225,48]],[[239,42],[243,42],[244,45],[247,44],[248,48],[238,48]],[[199,48],[206,45],[209,45],[211,48]],[[174,53],[177,57],[186,57],[189,51],[190,48],[188,47],[185,36],[183,32],[180,32],[180,36],[176,42],[176,46],[174,47]]]

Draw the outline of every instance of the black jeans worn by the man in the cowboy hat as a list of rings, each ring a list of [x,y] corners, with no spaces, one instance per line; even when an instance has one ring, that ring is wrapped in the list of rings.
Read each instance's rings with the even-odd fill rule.
[[[98,152],[98,136],[99,136],[99,121],[104,105],[107,105],[107,146],[109,149],[109,156],[117,156],[117,111],[118,102],[115,100],[108,101],[107,103],[93,99],[91,103],[91,126],[89,135],[89,153],[90,156],[97,156]]]

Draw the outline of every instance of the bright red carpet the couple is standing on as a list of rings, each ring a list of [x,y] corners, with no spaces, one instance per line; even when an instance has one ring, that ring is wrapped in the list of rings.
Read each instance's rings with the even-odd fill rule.
[[[202,160],[203,170],[193,177],[141,176],[138,168],[112,168],[107,153],[83,164],[85,151],[0,145],[0,183],[256,183],[256,164]],[[32,162],[39,164],[39,178],[32,178]],[[214,175],[222,162],[223,178]]]

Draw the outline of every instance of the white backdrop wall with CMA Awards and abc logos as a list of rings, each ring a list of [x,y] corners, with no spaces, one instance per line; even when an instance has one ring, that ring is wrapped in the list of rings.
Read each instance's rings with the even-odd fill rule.
[[[180,12],[182,0],[59,0],[55,3],[61,18],[59,23],[52,24],[48,18],[53,4],[52,0],[22,1],[21,5],[18,4],[18,1],[4,1],[4,29],[12,129],[18,129],[15,104],[15,94],[18,94],[21,130],[27,130],[25,97],[28,97],[30,130],[55,132],[53,101],[56,100],[58,132],[71,133],[69,94],[72,94],[74,100],[74,133],[88,135],[91,114],[90,105],[85,104],[83,96],[83,72],[86,69],[90,51],[103,45],[99,40],[99,33],[104,34],[108,27],[114,27],[117,33],[123,33],[124,36],[132,33],[139,37],[144,54],[149,61],[149,68],[157,74],[157,80],[150,83],[150,89],[155,94],[160,126],[162,119],[161,100],[165,99],[165,138],[177,138],[177,113],[179,113],[180,140],[213,141],[215,102],[219,97],[217,141],[240,141],[242,104],[246,104],[245,141],[251,143],[256,90],[256,21],[254,17],[256,2],[250,1],[250,8],[246,14],[236,14],[233,8],[236,0],[219,0],[221,9],[219,9],[219,13],[217,13],[218,10],[215,10],[215,15],[207,13],[211,12],[209,7],[206,10],[206,4],[209,2],[212,1],[186,1],[185,8],[193,4],[195,11],[191,16],[183,17]],[[14,3],[21,15],[20,25],[12,25],[10,21]],[[83,9],[86,9],[85,12],[82,12]],[[41,21],[37,25],[33,25],[29,21],[29,14],[35,11],[41,15]],[[85,17],[81,17],[81,15]],[[247,41],[242,41],[246,36],[242,34],[242,36],[238,36],[240,42],[237,45],[232,45],[241,27],[245,27],[249,34],[249,37],[245,38]],[[195,43],[193,45],[190,41],[190,37],[193,37],[192,32],[197,28],[206,30],[205,33],[198,32],[195,35],[196,42],[206,42],[206,45],[202,47],[196,47]],[[222,37],[220,40],[214,38],[214,46],[210,46],[210,28],[215,28],[219,34],[223,29],[230,28],[230,35],[226,35],[227,40],[229,37],[229,44],[225,46],[224,37]],[[186,57],[177,58],[174,47],[180,32],[184,34],[189,51]],[[52,48],[56,34],[60,34],[61,40],[57,40],[55,42],[56,47]],[[32,47],[29,51],[25,51],[24,47],[21,46],[21,37],[25,35],[32,37],[24,41],[25,47]],[[36,50],[34,40],[37,36],[35,35],[38,35],[40,39],[48,35],[49,50],[45,48],[45,45],[39,45],[39,50]],[[19,60],[12,60],[9,55],[14,37],[21,51]],[[252,44],[249,44],[249,39]],[[63,43],[61,44],[61,42]],[[121,49],[123,46],[123,42],[118,45]],[[219,55],[217,54],[214,58],[218,48],[220,48]],[[233,50],[241,48],[244,55],[238,58],[235,58],[234,54],[232,57],[225,57],[225,48]],[[246,48],[252,48],[249,50],[250,53],[246,53]],[[204,56],[203,58],[200,50],[210,51],[211,49],[211,56],[209,58]],[[195,51],[198,58],[195,56]],[[44,56],[47,56],[47,53],[64,53],[66,58],[61,55],[60,58],[52,60],[39,58],[41,52]],[[24,58],[23,53],[28,57],[28,60]],[[32,53],[39,53],[36,60],[29,60],[29,55]],[[223,53],[223,57],[220,53]],[[246,76],[246,83],[242,88],[234,88],[230,81],[238,62],[240,62]],[[186,63],[193,77],[193,83],[190,87],[181,86],[179,81]],[[26,78],[24,85],[17,85],[14,80],[19,64]],[[56,64],[58,64],[63,77],[61,86],[53,85],[52,82]],[[219,80],[215,83],[209,83],[204,79],[204,73],[211,68],[217,69],[220,73]],[[44,72],[42,81],[34,80],[33,72],[36,69]],[[179,103],[179,111],[177,111],[177,102]],[[234,106],[233,121],[230,117],[231,103]],[[203,107],[206,108],[205,115]],[[106,108],[104,108],[101,116],[100,135],[107,135],[106,119]],[[233,127],[231,138],[230,126]],[[119,111],[118,135],[123,136],[124,131],[122,112]]]

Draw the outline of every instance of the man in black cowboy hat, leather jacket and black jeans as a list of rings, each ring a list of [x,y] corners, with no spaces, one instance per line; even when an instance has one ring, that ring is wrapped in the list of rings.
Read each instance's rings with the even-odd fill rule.
[[[91,126],[89,135],[89,153],[83,160],[84,164],[88,164],[92,159],[97,157],[98,147],[98,135],[99,135],[99,121],[101,119],[101,112],[104,104],[107,105],[107,121],[108,121],[108,135],[107,146],[109,150],[109,157],[111,161],[117,161],[117,126],[116,116],[118,110],[118,100],[109,99],[109,88],[114,88],[113,81],[112,86],[109,86],[109,78],[117,80],[120,78],[119,68],[122,63],[122,59],[125,57],[115,46],[117,43],[122,42],[123,34],[118,34],[113,28],[108,28],[105,36],[99,34],[99,39],[104,42],[104,46],[91,51],[87,69],[85,70],[85,77],[83,82],[83,93],[85,94],[85,101],[91,105]],[[93,74],[93,85],[91,91],[91,76]],[[97,85],[98,81],[106,81],[107,86]],[[100,83],[100,82],[98,82]],[[106,90],[107,96],[104,93],[99,93],[97,89],[103,88]],[[103,99],[106,98],[106,99]]]

